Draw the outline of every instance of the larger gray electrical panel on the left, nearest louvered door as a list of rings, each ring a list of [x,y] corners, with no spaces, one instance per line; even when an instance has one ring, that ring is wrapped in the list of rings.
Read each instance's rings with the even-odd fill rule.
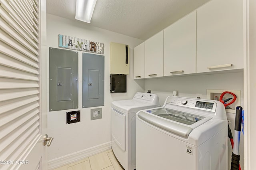
[[[78,108],[78,52],[49,48],[50,111]]]

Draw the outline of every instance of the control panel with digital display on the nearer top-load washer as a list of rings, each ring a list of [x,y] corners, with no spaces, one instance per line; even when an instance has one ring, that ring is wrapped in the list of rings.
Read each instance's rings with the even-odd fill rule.
[[[178,105],[182,107],[189,107],[193,109],[199,109],[204,111],[215,112],[217,104],[214,101],[204,99],[190,99],[182,97],[168,97],[166,99],[166,105]]]

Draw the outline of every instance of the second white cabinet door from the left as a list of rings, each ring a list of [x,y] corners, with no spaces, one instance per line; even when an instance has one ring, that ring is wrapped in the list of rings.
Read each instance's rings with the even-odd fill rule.
[[[164,31],[145,41],[145,78],[164,75]]]

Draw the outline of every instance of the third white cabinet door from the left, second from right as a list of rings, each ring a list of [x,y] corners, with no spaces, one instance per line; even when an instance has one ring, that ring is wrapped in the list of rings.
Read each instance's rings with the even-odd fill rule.
[[[164,76],[196,73],[196,11],[164,30]]]

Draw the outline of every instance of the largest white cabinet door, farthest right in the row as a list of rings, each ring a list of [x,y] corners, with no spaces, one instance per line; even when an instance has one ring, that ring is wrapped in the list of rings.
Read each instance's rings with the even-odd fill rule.
[[[196,12],[196,72],[243,68],[243,0],[212,0]]]

